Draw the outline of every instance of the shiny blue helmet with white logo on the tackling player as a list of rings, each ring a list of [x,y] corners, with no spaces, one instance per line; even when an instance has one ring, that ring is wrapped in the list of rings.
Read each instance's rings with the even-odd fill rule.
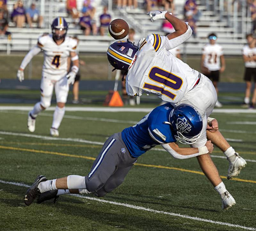
[[[188,104],[180,104],[171,111],[170,123],[175,139],[182,144],[194,144],[202,134],[202,116]]]

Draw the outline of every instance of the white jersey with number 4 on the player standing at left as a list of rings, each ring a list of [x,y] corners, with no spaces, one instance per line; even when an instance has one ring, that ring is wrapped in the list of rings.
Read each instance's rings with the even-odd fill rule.
[[[70,52],[76,52],[77,40],[66,36],[63,43],[57,45],[52,35],[38,38],[37,46],[44,52],[43,74],[48,78],[59,80],[67,74]]]

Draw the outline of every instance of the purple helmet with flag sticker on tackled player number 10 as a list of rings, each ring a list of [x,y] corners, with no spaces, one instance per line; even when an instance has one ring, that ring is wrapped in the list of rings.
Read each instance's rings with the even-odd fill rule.
[[[109,63],[117,70],[128,71],[133,57],[139,50],[132,42],[117,41],[108,47],[107,56]]]

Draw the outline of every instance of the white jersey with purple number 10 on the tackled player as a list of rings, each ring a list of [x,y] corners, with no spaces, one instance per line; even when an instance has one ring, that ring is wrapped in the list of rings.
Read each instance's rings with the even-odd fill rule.
[[[150,34],[142,42],[126,76],[128,95],[145,92],[176,104],[198,80],[198,71],[174,57],[165,47],[165,36]]]

